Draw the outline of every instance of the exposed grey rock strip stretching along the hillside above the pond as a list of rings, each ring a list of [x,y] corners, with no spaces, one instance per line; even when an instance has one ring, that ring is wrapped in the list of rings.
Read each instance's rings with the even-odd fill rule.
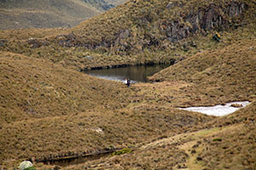
[[[172,8],[182,7],[182,3],[168,3],[166,10],[172,10]],[[189,37],[197,32],[206,32],[212,29],[224,29],[232,26],[232,20],[247,10],[246,3],[240,3],[231,1],[225,6],[217,4],[210,4],[206,8],[199,8],[196,11],[190,11],[189,14],[178,13],[177,20],[164,20],[159,24],[154,25],[154,29],[158,29],[158,36],[149,34],[148,31],[144,31],[141,39],[137,40],[133,37],[135,32],[132,32],[131,28],[126,28],[115,34],[114,39],[105,39],[102,37],[102,42],[83,42],[79,39],[79,35],[61,35],[59,38],[59,44],[62,47],[84,47],[84,48],[108,48],[110,51],[116,53],[129,53],[130,50],[141,51],[144,48],[161,47],[163,40],[170,42],[178,42],[184,38]],[[136,18],[137,27],[144,29],[148,25],[152,25],[152,17],[150,14],[146,14],[143,17]],[[147,25],[147,26],[146,26]],[[148,27],[150,27],[148,26]],[[150,31],[150,30],[149,30]],[[131,40],[137,42],[131,42]]]

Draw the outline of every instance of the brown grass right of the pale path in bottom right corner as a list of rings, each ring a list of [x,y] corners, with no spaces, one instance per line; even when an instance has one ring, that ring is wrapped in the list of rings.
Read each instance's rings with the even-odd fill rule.
[[[255,125],[255,121],[243,123],[204,139],[198,155],[203,166],[206,169],[255,169]]]

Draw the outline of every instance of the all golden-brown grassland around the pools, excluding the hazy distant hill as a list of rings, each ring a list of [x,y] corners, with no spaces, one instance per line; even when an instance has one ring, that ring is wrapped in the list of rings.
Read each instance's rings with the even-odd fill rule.
[[[0,164],[116,147],[132,152],[65,168],[255,169],[255,4],[130,1],[69,30],[0,31]],[[131,88],[77,71],[170,59]],[[176,108],[236,100],[252,104]]]

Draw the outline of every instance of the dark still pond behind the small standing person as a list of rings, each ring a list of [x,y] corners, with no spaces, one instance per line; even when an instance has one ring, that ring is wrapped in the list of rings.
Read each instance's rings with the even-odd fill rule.
[[[170,65],[135,65],[113,69],[84,71],[86,74],[94,77],[100,77],[108,80],[124,82],[129,78],[131,83],[147,82],[147,77],[161,71]]]

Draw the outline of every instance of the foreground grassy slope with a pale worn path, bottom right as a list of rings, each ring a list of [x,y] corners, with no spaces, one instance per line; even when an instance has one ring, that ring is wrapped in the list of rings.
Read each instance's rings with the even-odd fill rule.
[[[255,104],[216,118],[199,131],[165,136],[131,153],[67,169],[255,169]]]

